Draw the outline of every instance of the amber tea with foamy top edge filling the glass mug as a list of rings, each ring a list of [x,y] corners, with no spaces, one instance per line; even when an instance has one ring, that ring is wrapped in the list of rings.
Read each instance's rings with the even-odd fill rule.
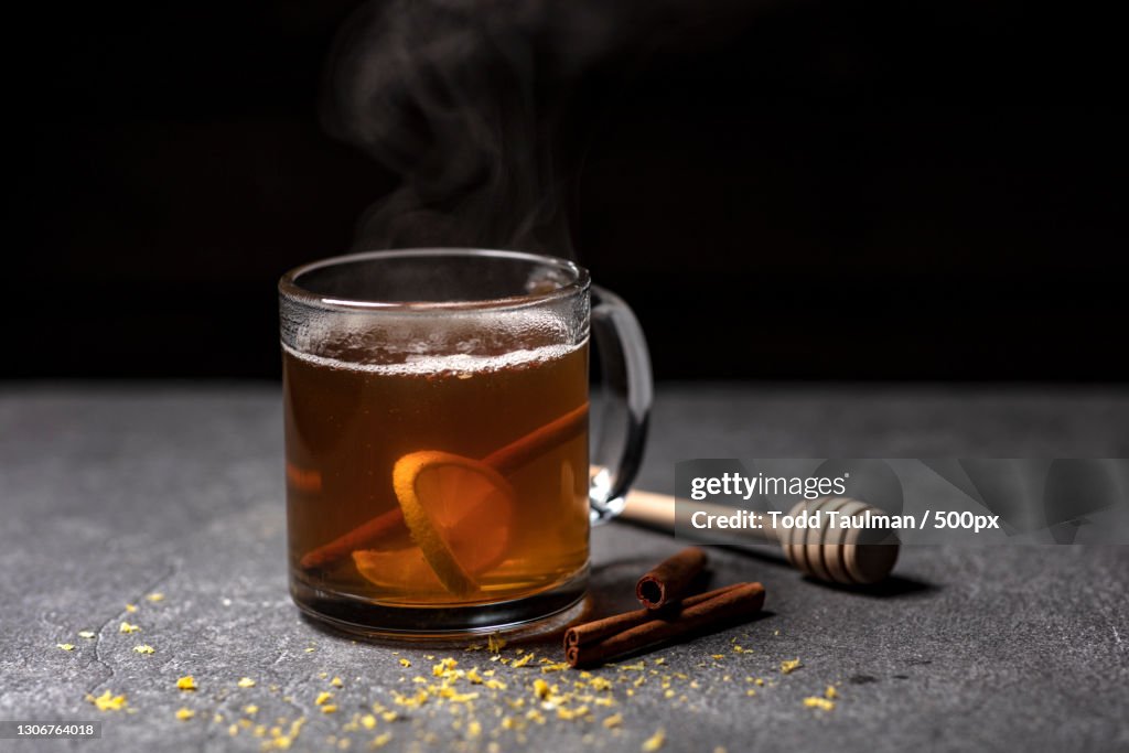
[[[507,470],[506,493],[483,497],[483,482],[476,481],[431,489],[420,499],[429,509],[443,507],[448,518],[463,515],[460,506],[465,506],[457,541],[450,546],[470,562],[472,589],[445,584],[420,545],[427,542],[404,523],[324,567],[303,566],[310,552],[401,509],[393,469],[403,456],[436,450],[480,461],[586,404],[587,343],[507,348],[414,359],[384,359],[377,348],[361,364],[285,349],[294,579],[323,597],[353,602],[471,605],[532,596],[585,569],[586,418],[578,431]],[[465,500],[460,496],[464,488],[473,492]]]

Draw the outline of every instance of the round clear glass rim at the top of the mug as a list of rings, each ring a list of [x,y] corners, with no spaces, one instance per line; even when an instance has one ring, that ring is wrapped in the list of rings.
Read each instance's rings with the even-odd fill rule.
[[[552,290],[544,292],[525,294],[518,296],[506,296],[502,298],[480,298],[470,300],[408,300],[408,301],[382,301],[375,299],[338,298],[335,296],[324,296],[300,284],[300,278],[309,272],[336,266],[340,264],[352,264],[379,259],[428,259],[439,256],[463,256],[463,257],[487,257],[508,259],[540,264],[543,266],[555,266],[558,270],[567,272],[572,279]],[[445,312],[445,310],[499,310],[526,308],[537,306],[549,301],[569,298],[577,294],[583,294],[590,284],[588,270],[576,262],[559,256],[545,254],[534,254],[524,251],[504,251],[495,248],[474,248],[460,246],[435,246],[419,248],[390,248],[378,251],[362,251],[352,254],[327,256],[305,264],[299,264],[286,272],[279,279],[279,295],[288,300],[292,300],[307,306],[324,308],[330,310],[364,310],[364,312]]]

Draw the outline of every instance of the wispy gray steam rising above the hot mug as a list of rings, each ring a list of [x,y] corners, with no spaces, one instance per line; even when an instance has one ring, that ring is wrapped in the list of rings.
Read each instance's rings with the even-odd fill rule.
[[[724,20],[729,2],[708,18]],[[572,176],[557,163],[567,94],[595,63],[691,20],[702,23],[693,0],[369,3],[338,40],[323,113],[402,178],[369,209],[359,245],[570,255]]]

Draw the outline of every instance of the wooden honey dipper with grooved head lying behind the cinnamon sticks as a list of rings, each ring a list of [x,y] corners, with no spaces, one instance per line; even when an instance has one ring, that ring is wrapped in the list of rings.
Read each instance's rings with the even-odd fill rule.
[[[699,510],[718,516],[734,514],[730,507],[703,502],[685,502],[676,507],[674,497],[669,494],[632,490],[628,493],[623,517],[672,532],[677,522],[682,532],[694,529],[689,517]],[[797,502],[788,515],[796,517],[819,511],[820,518],[826,519],[824,513],[832,510],[842,515],[863,515],[866,510],[872,516],[885,515],[881,509],[849,497],[805,499]],[[850,586],[875,584],[889,576],[898,561],[898,540],[894,537],[891,541],[893,534],[884,528],[832,528],[821,525],[819,528],[777,529],[768,526],[728,528],[726,532],[752,543],[779,543],[793,567],[828,583]]]

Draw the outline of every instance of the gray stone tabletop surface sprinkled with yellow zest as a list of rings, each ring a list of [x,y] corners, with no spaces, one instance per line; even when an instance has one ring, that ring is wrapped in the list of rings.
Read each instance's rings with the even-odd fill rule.
[[[668,385],[641,482],[669,490],[674,461],[706,456],[1124,457],[1127,426],[1123,391]],[[1129,548],[913,548],[898,579],[872,594],[806,581],[771,553],[714,549],[720,580],[765,584],[767,616],[645,656],[641,672],[597,671],[613,688],[588,692],[614,706],[588,702],[590,717],[575,720],[543,710],[544,724],[522,732],[501,719],[535,708],[534,680],[563,691],[576,673],[500,666],[485,651],[357,643],[299,618],[286,589],[272,385],[8,385],[0,500],[0,719],[104,721],[100,741],[0,741],[5,750],[257,751],[253,727],[228,734],[248,703],[268,728],[308,718],[295,750],[340,739],[367,750],[391,732],[386,750],[638,751],[660,728],[664,751],[1129,746]],[[677,548],[622,524],[596,531],[598,608],[630,606],[633,579]],[[164,601],[147,601],[154,592]],[[121,633],[123,620],[141,631]],[[155,653],[134,653],[140,643]],[[524,648],[560,658],[555,643]],[[412,677],[431,678],[428,655],[496,668],[507,689],[461,681],[480,692],[470,704],[396,707],[393,693],[412,692]],[[803,666],[782,675],[780,662],[797,657]],[[176,690],[184,674],[198,691]],[[237,688],[243,676],[256,686]],[[343,688],[330,686],[333,676]],[[805,708],[829,684],[841,697],[834,710]],[[105,690],[126,694],[129,711],[85,700]],[[336,713],[314,703],[323,690]],[[400,718],[345,729],[373,702]],[[182,707],[196,717],[176,720]],[[606,728],[612,715],[622,725]]]

